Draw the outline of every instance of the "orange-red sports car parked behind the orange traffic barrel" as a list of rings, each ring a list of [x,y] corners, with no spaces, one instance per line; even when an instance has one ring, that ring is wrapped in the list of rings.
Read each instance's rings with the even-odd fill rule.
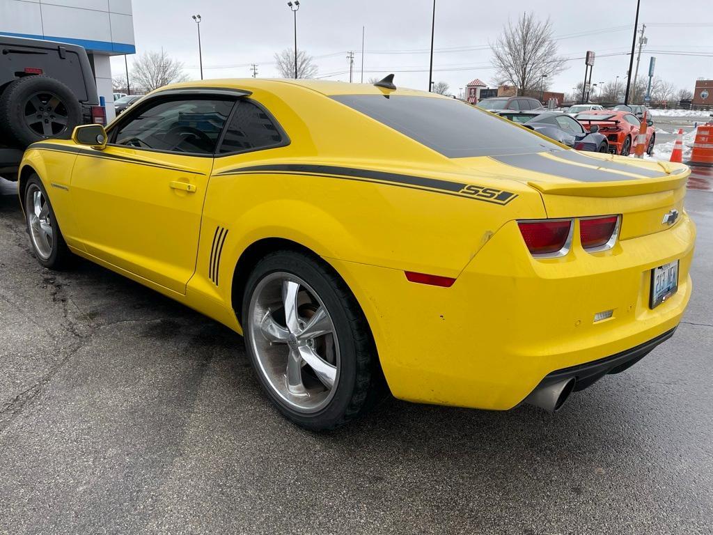
[[[629,156],[637,143],[641,121],[633,113],[618,110],[585,111],[576,119],[588,130],[597,126],[597,131],[607,136],[609,150],[621,156]],[[656,133],[651,126],[646,128],[646,153],[651,156],[656,143]]]

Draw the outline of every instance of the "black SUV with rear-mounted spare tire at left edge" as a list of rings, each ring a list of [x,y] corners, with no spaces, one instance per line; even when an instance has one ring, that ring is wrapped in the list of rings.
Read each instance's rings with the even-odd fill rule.
[[[106,123],[81,46],[0,36],[0,176],[16,180],[25,148]]]

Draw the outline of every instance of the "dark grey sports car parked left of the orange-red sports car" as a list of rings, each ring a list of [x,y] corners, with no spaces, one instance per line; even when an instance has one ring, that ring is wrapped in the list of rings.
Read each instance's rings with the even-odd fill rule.
[[[591,131],[585,128],[575,118],[560,111],[503,111],[498,115],[510,119],[515,123],[520,123],[525,128],[530,128],[535,132],[543,134],[550,139],[559,141],[563,145],[577,149],[578,151],[590,151],[593,153],[608,153],[609,143],[607,136],[598,133],[598,128]]]

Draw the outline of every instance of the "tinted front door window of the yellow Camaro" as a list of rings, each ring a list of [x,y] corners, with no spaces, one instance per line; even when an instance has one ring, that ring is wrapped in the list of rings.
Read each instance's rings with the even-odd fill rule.
[[[212,154],[234,101],[176,99],[140,108],[120,126],[117,145],[175,153]]]

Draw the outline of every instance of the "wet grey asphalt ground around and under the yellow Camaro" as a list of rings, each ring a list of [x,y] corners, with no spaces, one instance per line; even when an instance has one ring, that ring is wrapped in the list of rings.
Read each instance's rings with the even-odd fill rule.
[[[0,532],[713,533],[713,193],[672,340],[552,416],[387,401],[304,432],[242,339],[119,275],[41,269],[0,196]]]

